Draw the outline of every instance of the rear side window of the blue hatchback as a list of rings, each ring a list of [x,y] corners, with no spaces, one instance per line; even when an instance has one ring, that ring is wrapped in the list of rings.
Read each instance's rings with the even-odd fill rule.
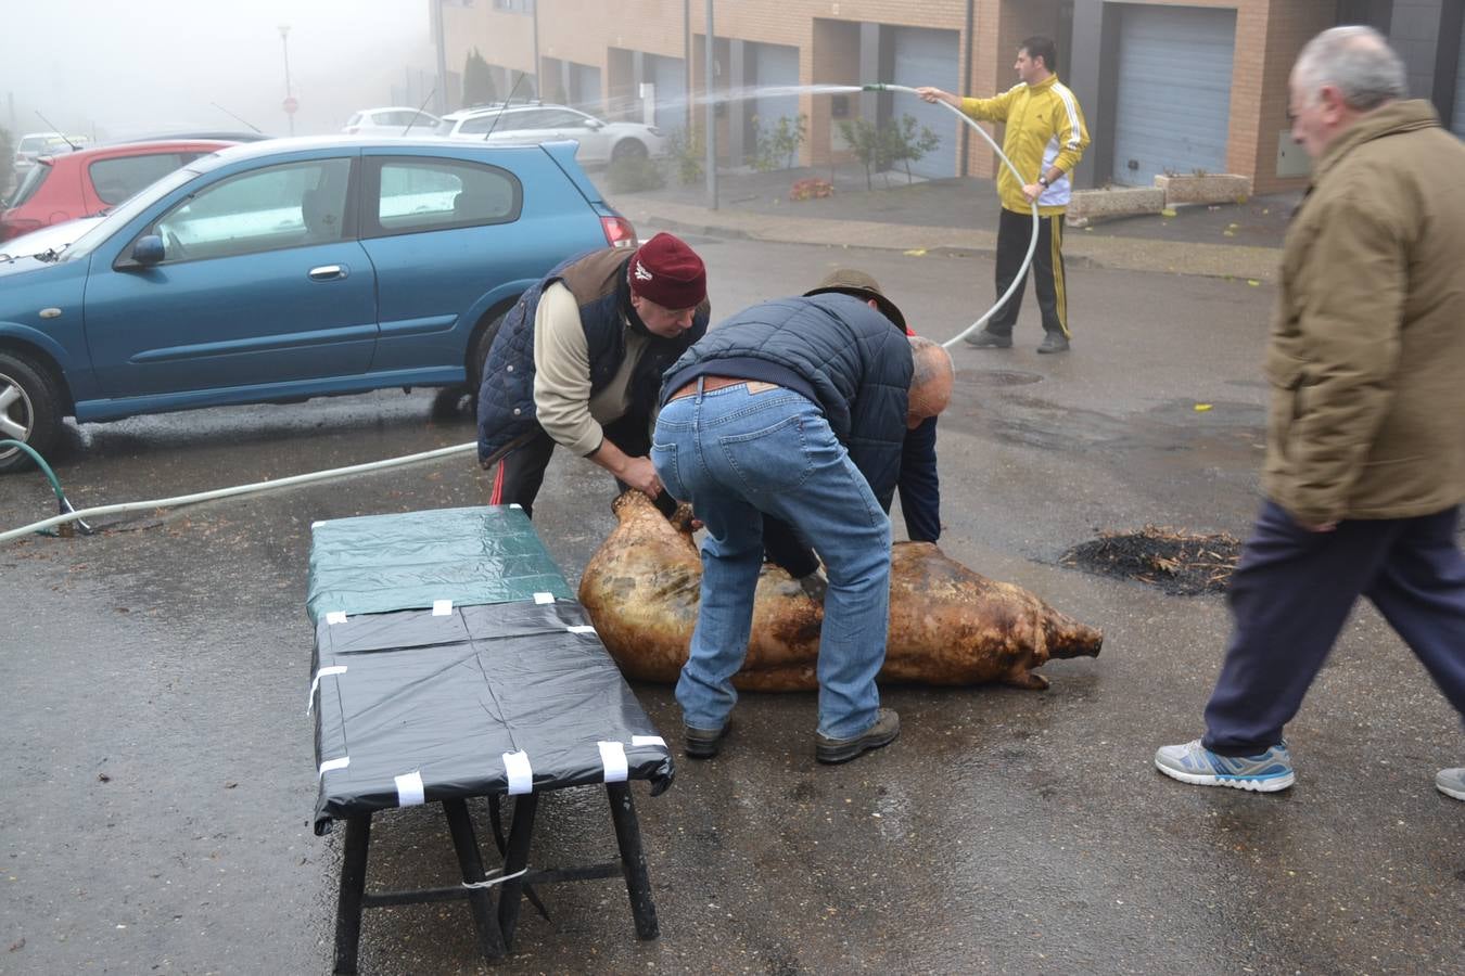
[[[378,187],[378,237],[507,224],[523,203],[513,174],[460,159],[385,159]]]

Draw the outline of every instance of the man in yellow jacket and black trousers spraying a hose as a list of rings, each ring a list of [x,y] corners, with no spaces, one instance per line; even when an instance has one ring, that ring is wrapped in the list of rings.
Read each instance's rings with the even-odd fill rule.
[[[1002,152],[1023,176],[1004,164],[998,170],[1002,215],[998,224],[998,297],[1012,287],[1033,234],[1033,209],[1040,217],[1033,252],[1033,284],[1043,312],[1039,353],[1068,350],[1068,288],[1064,281],[1064,212],[1072,195],[1069,174],[1088,146],[1088,129],[1074,92],[1052,72],[1058,53],[1045,37],[1023,41],[1014,66],[1020,82],[995,98],[958,98],[939,88],[917,88],[929,102],[943,101],[982,121],[1006,123]],[[1018,282],[1012,297],[967,342],[977,348],[1011,348],[1012,326],[1023,306]]]

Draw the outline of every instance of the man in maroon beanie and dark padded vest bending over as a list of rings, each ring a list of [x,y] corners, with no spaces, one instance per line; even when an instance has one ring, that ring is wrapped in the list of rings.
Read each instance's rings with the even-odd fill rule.
[[[708,331],[702,259],[671,234],[561,263],[520,296],[483,363],[478,457],[491,505],[535,496],[555,445],[674,506],[648,459],[661,373]]]

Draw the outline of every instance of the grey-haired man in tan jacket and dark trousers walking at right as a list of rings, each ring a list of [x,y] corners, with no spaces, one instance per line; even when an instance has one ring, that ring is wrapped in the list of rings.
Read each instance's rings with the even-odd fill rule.
[[[1465,716],[1465,146],[1376,31],[1324,31],[1291,79],[1313,184],[1288,230],[1266,375],[1267,500],[1184,783],[1292,786],[1282,739],[1360,596]],[[1436,777],[1465,800],[1465,770]]]

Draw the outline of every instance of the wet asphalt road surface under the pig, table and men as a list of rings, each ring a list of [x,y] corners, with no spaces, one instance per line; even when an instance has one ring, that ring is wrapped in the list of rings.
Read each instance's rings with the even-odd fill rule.
[[[694,243],[715,318],[837,263],[936,338],[989,293],[982,260]],[[1049,664],[1047,692],[886,689],[901,739],[835,768],[812,758],[812,695],[746,695],[718,759],[636,789],[661,939],[633,938],[617,881],[549,887],[551,920],[526,906],[495,972],[1465,972],[1465,805],[1431,786],[1465,740],[1379,616],[1358,610],[1288,730],[1297,787],[1204,790],[1150,757],[1200,732],[1223,601],[1058,565],[1106,528],[1245,534],[1270,299],[1075,269],[1072,354],[1033,353],[1031,297],[1018,348],[958,350],[942,547],[1102,626],[1103,654]],[[472,439],[450,397],[391,391],[86,426],[54,461],[81,508]],[[536,524],[571,582],[611,490],[551,468]],[[340,833],[308,825],[309,525],[485,498],[461,457],[0,547],[0,972],[328,972]],[[51,511],[38,476],[0,478],[0,524]],[[675,740],[670,689],[637,692]],[[612,852],[596,790],[541,805],[533,865]],[[371,887],[456,879],[435,808],[379,817],[372,857]],[[486,972],[460,903],[368,912],[360,961]]]

